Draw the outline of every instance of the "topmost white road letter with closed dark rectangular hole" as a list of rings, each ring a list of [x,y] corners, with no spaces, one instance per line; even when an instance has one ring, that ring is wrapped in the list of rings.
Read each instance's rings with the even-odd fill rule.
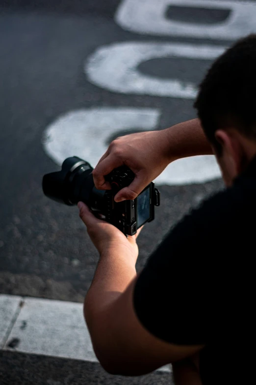
[[[168,20],[168,6],[230,9],[230,16],[221,23],[198,25]],[[124,0],[120,3],[115,21],[132,32],[234,40],[256,32],[256,3],[253,1],[219,0]]]

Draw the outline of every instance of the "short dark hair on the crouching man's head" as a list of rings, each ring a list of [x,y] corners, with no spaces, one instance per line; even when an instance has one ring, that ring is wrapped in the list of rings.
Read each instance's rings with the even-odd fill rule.
[[[256,34],[237,41],[210,67],[194,107],[217,153],[219,128],[236,128],[256,140]]]

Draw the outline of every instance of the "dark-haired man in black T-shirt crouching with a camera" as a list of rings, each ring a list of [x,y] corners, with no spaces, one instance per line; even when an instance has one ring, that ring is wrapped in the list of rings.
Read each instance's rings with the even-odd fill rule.
[[[84,314],[110,373],[172,363],[177,384],[242,384],[254,367],[256,35],[215,61],[195,107],[200,120],[112,142],[96,187],[110,188],[103,176],[126,164],[135,179],[115,200],[134,199],[171,161],[214,153],[227,188],[186,215],[139,274],[138,234],[125,237],[78,203],[100,253]]]

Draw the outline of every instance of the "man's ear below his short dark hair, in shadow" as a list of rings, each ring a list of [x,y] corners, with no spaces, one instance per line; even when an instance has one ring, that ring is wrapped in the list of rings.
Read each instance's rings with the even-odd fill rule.
[[[235,130],[217,130],[215,138],[222,147],[221,158],[230,176],[235,178],[243,171],[244,153],[243,147]]]

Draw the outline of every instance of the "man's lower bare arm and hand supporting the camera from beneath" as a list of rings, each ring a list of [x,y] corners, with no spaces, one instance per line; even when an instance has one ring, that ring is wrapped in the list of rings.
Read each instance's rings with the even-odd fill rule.
[[[97,219],[85,205],[80,217],[100,252],[84,301],[84,315],[104,369],[113,374],[142,375],[202,349],[202,345],[164,342],[142,326],[133,304],[138,255],[135,237],[126,238],[114,226]]]

